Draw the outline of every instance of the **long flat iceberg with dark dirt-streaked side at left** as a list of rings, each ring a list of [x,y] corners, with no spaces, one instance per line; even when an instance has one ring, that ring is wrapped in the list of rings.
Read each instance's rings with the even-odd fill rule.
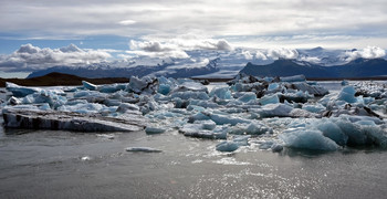
[[[74,132],[138,132],[145,119],[140,115],[114,118],[57,111],[39,111],[31,107],[2,109],[4,126],[8,128],[53,129]]]

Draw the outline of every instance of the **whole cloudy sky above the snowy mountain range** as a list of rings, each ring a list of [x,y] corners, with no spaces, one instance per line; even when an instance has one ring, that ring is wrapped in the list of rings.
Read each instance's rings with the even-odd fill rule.
[[[0,71],[34,70],[20,55],[33,52],[93,63],[192,49],[387,49],[386,24],[386,0],[1,0]]]

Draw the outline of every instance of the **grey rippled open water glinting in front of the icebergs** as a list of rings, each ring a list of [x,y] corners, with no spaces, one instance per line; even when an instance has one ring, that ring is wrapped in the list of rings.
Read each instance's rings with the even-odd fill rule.
[[[337,88],[337,83],[331,85]],[[3,97],[3,96],[2,96]],[[2,118],[0,119],[2,123]],[[240,148],[177,130],[80,134],[0,127],[0,198],[385,198],[387,151]],[[129,153],[153,147],[161,153]]]

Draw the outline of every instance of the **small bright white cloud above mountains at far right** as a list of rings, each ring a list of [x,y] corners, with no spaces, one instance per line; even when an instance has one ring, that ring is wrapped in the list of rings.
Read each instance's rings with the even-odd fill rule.
[[[359,57],[363,59],[378,59],[386,55],[386,51],[378,46],[367,46],[363,50],[354,50],[347,51],[344,53],[344,57],[346,61],[353,61]]]

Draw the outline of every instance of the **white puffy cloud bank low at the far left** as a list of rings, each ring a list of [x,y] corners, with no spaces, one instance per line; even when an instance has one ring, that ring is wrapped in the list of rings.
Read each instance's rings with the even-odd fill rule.
[[[34,71],[54,65],[86,65],[98,63],[111,54],[98,50],[82,50],[74,44],[60,49],[41,49],[32,44],[21,45],[11,54],[0,55],[2,71]]]

